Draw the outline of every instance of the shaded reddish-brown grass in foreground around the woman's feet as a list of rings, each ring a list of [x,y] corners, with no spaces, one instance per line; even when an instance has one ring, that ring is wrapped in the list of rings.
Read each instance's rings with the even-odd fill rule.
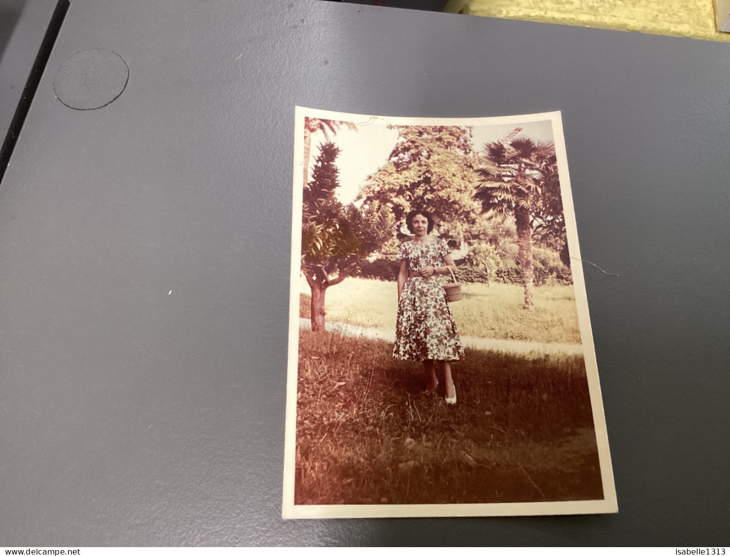
[[[296,504],[603,498],[582,357],[467,350],[447,406],[391,344],[299,341]]]

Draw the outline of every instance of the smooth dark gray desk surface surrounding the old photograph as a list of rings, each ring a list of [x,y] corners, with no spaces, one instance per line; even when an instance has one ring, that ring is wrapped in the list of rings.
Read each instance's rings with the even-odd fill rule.
[[[129,82],[81,112],[53,77],[88,48]],[[728,544],[729,70],[689,39],[74,0],[0,189],[0,543]],[[583,256],[621,274],[585,271],[619,514],[280,520],[295,104],[563,111]]]

